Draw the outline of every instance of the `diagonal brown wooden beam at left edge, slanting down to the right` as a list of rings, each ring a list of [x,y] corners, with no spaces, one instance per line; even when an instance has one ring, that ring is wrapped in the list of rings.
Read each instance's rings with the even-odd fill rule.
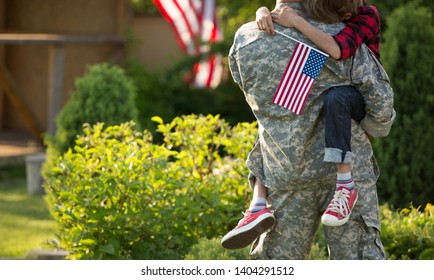
[[[36,124],[35,118],[32,116],[30,110],[26,104],[18,96],[14,83],[12,82],[11,75],[4,65],[0,64],[0,87],[3,89],[6,97],[11,101],[12,105],[17,109],[20,115],[23,117],[25,124],[29,127],[33,136],[43,143],[42,131]]]

